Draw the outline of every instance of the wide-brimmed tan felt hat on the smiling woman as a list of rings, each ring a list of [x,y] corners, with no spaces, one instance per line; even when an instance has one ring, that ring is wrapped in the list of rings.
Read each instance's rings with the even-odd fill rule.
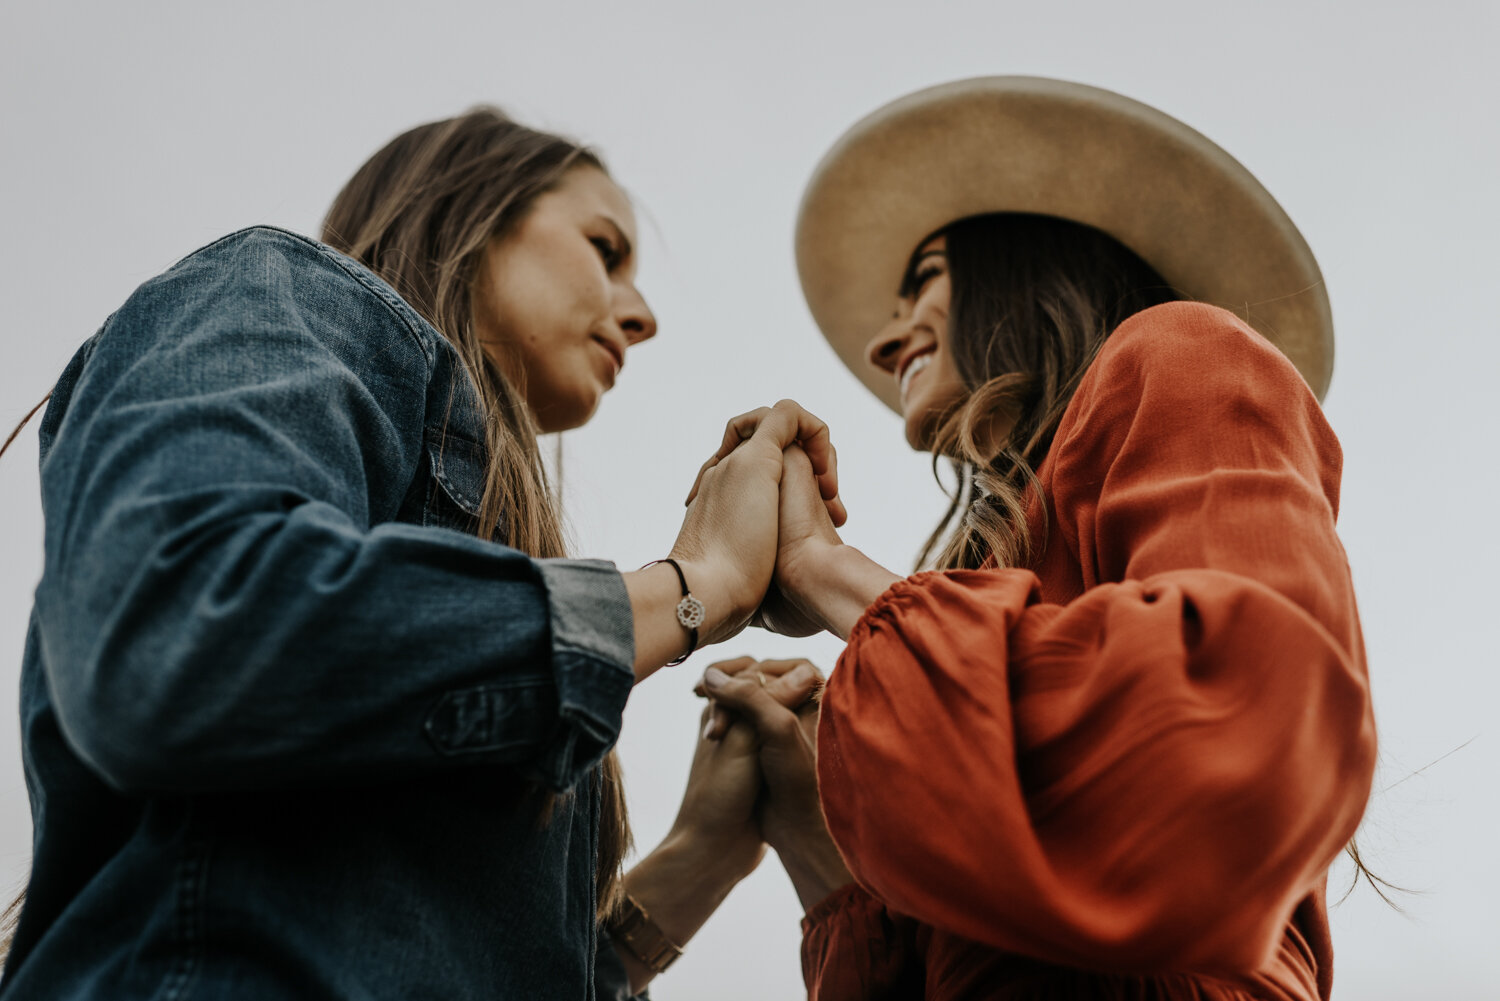
[[[866,360],[912,252],[966,216],[1030,212],[1118,239],[1190,299],[1224,306],[1317,393],[1334,315],[1312,251],[1276,200],[1182,122],[1118,93],[1038,77],[928,87],[856,122],[813,171],[796,270],[838,357],[892,410]]]

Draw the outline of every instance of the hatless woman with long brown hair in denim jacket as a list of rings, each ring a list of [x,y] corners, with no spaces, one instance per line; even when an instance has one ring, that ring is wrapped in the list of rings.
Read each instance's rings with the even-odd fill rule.
[[[760,858],[753,747],[700,744],[621,890],[610,749],[759,606],[794,440],[842,519],[826,431],[778,404],[676,566],[566,558],[536,434],[656,332],[600,161],[477,110],[376,153],[324,242],[192,254],[51,395],[6,1001],[622,998]]]

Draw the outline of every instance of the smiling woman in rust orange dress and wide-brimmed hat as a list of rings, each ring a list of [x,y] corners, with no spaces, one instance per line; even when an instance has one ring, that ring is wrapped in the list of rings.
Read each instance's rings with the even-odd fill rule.
[[[840,138],[798,266],[960,474],[939,569],[900,578],[786,453],[764,615],[848,639],[826,833],[806,728],[740,665],[705,677],[764,738],[810,995],[1326,999],[1326,873],[1376,749],[1332,321],[1290,219],[1158,111],[986,78]]]

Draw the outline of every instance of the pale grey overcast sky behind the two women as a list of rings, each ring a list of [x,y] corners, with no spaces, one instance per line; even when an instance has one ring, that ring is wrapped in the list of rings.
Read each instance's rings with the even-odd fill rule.
[[[1362,837],[1380,872],[1422,890],[1406,917],[1368,890],[1334,911],[1338,996],[1496,996],[1496,11],[6,3],[0,419],[9,429],[142,279],[248,224],[314,233],[393,134],[490,101],[597,143],[644,209],[640,284],[662,333],[566,437],[578,552],[624,567],[666,552],[723,420],[794,396],[836,431],[846,539],[908,567],[942,498],[807,317],[790,254],[801,186],[844,126],[916,87],[1038,74],[1120,90],[1244,161],[1302,227],[1334,302],[1328,413],[1347,453],[1341,530],[1383,740]],[[4,887],[30,846],[14,692],[40,573],[34,464],[28,429],[0,461]],[[838,645],[747,633],[724,650],[740,651],[831,666]],[[712,657],[632,698],[621,747],[644,846],[676,809],[688,689]],[[771,858],[657,996],[796,995],[798,917]]]

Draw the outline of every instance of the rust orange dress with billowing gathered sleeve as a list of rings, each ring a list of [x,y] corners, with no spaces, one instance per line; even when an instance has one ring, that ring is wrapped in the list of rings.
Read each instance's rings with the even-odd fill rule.
[[[1034,567],[896,584],[828,683],[858,884],[804,920],[810,996],[1328,998],[1376,759],[1340,467],[1232,314],[1124,323],[1038,470]]]

